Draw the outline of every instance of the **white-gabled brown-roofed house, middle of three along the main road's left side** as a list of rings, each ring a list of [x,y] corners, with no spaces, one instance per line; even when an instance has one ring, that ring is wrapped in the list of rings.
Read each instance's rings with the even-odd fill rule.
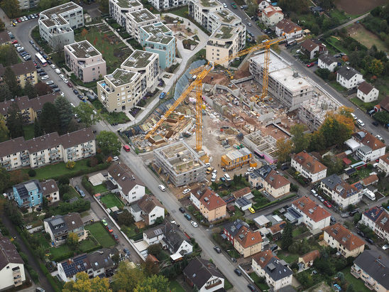
[[[146,226],[153,225],[157,218],[165,218],[165,208],[153,195],[144,195],[141,200],[130,206],[135,222],[143,221]]]

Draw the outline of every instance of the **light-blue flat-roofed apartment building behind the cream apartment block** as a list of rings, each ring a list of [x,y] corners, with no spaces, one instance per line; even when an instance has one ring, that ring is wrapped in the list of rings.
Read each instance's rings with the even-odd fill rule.
[[[159,55],[161,69],[175,63],[175,37],[162,22],[152,23],[139,28],[141,45],[146,51]]]

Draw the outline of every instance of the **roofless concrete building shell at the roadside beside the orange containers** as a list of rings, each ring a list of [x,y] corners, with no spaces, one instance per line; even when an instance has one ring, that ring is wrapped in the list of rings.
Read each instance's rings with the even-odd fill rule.
[[[180,187],[205,180],[205,164],[199,154],[184,141],[153,151],[155,168],[167,174],[167,180]]]

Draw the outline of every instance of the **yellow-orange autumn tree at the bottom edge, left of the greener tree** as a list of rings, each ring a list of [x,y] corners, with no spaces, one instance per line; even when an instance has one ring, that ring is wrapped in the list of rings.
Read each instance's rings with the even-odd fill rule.
[[[76,274],[76,281],[66,282],[62,292],[112,292],[109,288],[109,279],[95,277],[89,279],[85,272]]]

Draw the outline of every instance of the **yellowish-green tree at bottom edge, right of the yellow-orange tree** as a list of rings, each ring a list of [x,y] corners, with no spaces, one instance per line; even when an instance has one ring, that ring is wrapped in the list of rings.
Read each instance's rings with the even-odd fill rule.
[[[121,261],[113,276],[112,286],[115,291],[133,292],[138,283],[143,282],[145,278],[143,271],[133,269],[127,261]]]

